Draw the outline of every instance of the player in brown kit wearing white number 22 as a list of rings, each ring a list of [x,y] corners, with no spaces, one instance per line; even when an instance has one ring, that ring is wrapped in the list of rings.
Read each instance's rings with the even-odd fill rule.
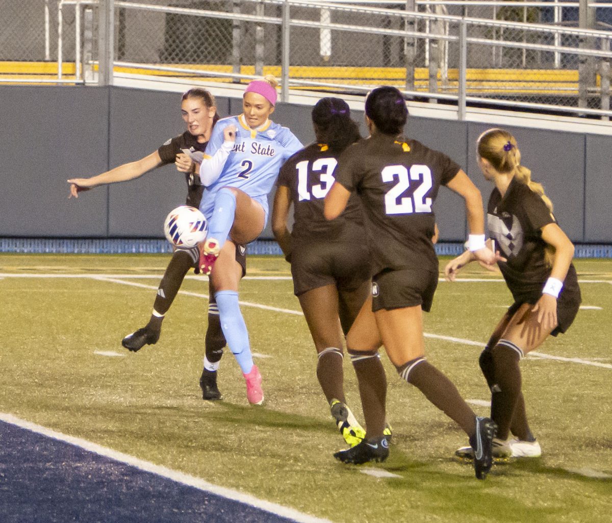
[[[386,380],[379,367],[384,345],[400,376],[468,434],[476,477],[491,468],[495,424],[474,414],[455,385],[425,359],[422,310],[430,310],[438,284],[431,206],[441,185],[465,199],[469,248],[477,259],[494,263],[485,246],[480,191],[449,157],[402,136],[408,109],[394,87],[373,89],[365,100],[371,136],[349,146],[338,159],[335,183],[327,194],[325,216],[337,217],[353,192],[365,211],[373,279],[369,298],[346,337],[359,380],[367,434],[362,443],[334,456],[346,463],[384,461],[389,443],[383,434]]]

